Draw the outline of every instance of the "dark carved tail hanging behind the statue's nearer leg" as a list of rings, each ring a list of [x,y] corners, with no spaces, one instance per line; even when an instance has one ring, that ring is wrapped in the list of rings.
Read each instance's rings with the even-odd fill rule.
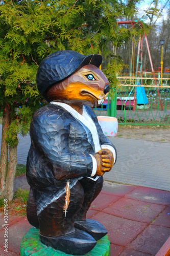
[[[30,187],[30,193],[27,201],[27,219],[32,226],[39,228],[36,207],[37,206],[34,200],[33,190]]]

